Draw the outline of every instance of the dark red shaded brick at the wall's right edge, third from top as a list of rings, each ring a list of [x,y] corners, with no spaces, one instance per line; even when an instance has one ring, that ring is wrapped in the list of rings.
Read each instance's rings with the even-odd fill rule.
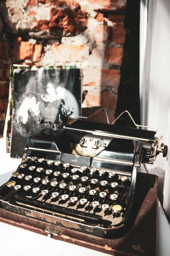
[[[126,29],[124,27],[114,26],[110,29],[110,39],[114,43],[124,44]]]

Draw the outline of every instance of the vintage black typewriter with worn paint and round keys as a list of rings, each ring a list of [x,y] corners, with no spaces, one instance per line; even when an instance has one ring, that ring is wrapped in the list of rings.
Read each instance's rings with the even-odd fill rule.
[[[82,119],[41,129],[28,138],[21,164],[1,187],[0,207],[113,238],[128,221],[141,163],[167,154],[159,140],[153,130]]]

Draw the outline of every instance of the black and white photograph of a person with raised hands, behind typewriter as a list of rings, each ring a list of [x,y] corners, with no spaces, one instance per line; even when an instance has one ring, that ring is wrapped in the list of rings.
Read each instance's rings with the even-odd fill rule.
[[[21,158],[27,138],[49,126],[37,125],[40,117],[57,125],[80,115],[80,69],[15,69],[13,86],[12,158]]]

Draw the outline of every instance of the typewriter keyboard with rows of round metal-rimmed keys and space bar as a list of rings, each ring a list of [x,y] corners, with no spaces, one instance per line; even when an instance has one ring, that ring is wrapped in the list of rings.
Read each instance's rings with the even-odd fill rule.
[[[120,223],[126,210],[131,177],[116,171],[25,157],[6,183],[6,199],[21,205],[57,212],[72,220]]]

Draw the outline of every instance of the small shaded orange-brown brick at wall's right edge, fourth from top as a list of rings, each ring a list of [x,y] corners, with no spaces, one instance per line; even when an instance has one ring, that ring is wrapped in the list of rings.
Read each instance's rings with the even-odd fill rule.
[[[123,48],[119,48],[119,47],[105,48],[105,60],[108,63],[121,65],[122,58],[123,58]]]

